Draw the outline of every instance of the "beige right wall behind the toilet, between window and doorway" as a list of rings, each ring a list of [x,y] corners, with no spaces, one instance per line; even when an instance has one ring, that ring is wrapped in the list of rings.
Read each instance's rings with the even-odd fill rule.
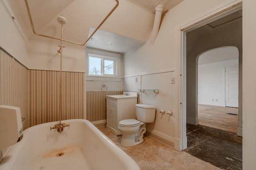
[[[124,54],[124,77],[127,77],[124,79],[124,90],[130,86],[134,87],[134,90],[138,86],[160,90],[156,96],[150,92],[140,96],[141,103],[155,105],[157,109],[155,122],[147,124],[146,127],[152,129],[150,133],[158,137],[158,140],[174,146],[177,150],[182,149],[181,132],[184,127],[181,127],[181,121],[186,119],[180,112],[179,31],[184,25],[208,15],[213,8],[221,8],[230,2],[232,1],[184,0],[163,16],[154,44],[148,41],[142,47]],[[140,82],[136,83],[132,76],[139,76]],[[171,78],[175,78],[175,84],[171,84]],[[160,109],[171,110],[173,115],[162,115],[159,113]]]

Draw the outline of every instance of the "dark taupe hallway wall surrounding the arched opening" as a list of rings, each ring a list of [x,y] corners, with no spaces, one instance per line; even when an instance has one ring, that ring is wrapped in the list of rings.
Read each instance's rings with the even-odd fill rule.
[[[241,11],[236,13],[242,14]],[[242,18],[223,23],[219,27],[209,29],[203,25],[186,32],[186,123],[198,125],[198,55],[220,47],[236,47],[239,53],[240,86],[242,86]],[[242,89],[242,88],[240,88]],[[241,93],[242,90],[239,91]],[[242,97],[242,94],[239,95]],[[211,98],[214,99],[214,98]],[[216,98],[214,99],[216,101]],[[242,98],[239,98],[242,104]],[[184,102],[183,102],[184,103]],[[239,113],[242,115],[242,106]],[[238,135],[242,135],[242,117],[239,119]]]

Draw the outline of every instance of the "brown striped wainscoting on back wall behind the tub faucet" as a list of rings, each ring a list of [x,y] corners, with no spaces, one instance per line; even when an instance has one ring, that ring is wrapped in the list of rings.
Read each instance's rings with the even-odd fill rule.
[[[59,121],[60,72],[29,70],[30,126]],[[84,119],[84,73],[62,72],[61,120]]]

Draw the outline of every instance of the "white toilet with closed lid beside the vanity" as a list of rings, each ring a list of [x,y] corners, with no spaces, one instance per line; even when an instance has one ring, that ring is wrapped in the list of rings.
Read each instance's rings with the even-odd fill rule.
[[[122,147],[131,147],[143,142],[146,133],[146,123],[153,123],[156,115],[156,106],[136,104],[136,119],[121,120],[118,125],[122,133]]]

